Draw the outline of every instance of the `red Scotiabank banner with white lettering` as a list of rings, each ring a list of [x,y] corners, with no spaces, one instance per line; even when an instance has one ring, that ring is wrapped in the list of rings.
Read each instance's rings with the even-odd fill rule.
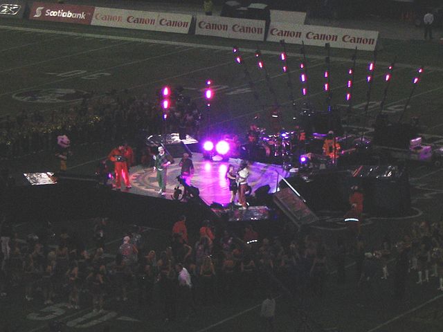
[[[91,24],[93,6],[64,5],[60,3],[35,2],[30,8],[29,19],[76,24]]]

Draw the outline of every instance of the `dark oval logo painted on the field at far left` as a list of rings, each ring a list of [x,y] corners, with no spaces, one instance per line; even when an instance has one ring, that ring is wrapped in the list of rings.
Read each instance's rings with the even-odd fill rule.
[[[75,89],[38,89],[15,93],[12,98],[21,102],[75,102],[82,100],[88,93]]]

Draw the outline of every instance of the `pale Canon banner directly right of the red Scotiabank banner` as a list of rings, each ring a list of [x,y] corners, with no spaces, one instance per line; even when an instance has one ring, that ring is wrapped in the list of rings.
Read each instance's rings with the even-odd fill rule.
[[[166,33],[188,33],[191,21],[192,15],[96,7],[91,25]]]

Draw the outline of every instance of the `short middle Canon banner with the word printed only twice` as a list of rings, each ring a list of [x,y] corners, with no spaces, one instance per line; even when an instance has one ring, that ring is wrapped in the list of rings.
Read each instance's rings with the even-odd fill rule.
[[[263,40],[264,21],[197,15],[195,34],[235,39]]]

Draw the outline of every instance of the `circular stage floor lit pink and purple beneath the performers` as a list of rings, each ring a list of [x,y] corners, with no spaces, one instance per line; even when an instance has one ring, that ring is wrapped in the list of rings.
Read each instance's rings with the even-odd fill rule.
[[[156,171],[153,168],[145,168],[141,165],[131,167],[130,176],[132,189],[127,190],[132,194],[145,196],[159,196],[165,199],[172,199],[174,187],[178,184],[177,176],[180,174],[180,158],[175,159],[175,163],[168,169],[168,185],[166,195],[160,196],[159,185],[156,181]],[[229,183],[226,178],[228,165],[232,164],[238,169],[241,159],[230,158],[228,161],[205,160],[202,154],[193,154],[192,162],[195,167],[195,174],[192,176],[191,185],[199,188],[200,198],[206,204],[212,203],[227,204],[230,199]],[[263,185],[271,187],[270,192],[275,192],[278,181],[278,174],[287,177],[289,172],[285,171],[282,165],[267,165],[263,163],[251,163],[251,176],[248,183],[253,192]]]

